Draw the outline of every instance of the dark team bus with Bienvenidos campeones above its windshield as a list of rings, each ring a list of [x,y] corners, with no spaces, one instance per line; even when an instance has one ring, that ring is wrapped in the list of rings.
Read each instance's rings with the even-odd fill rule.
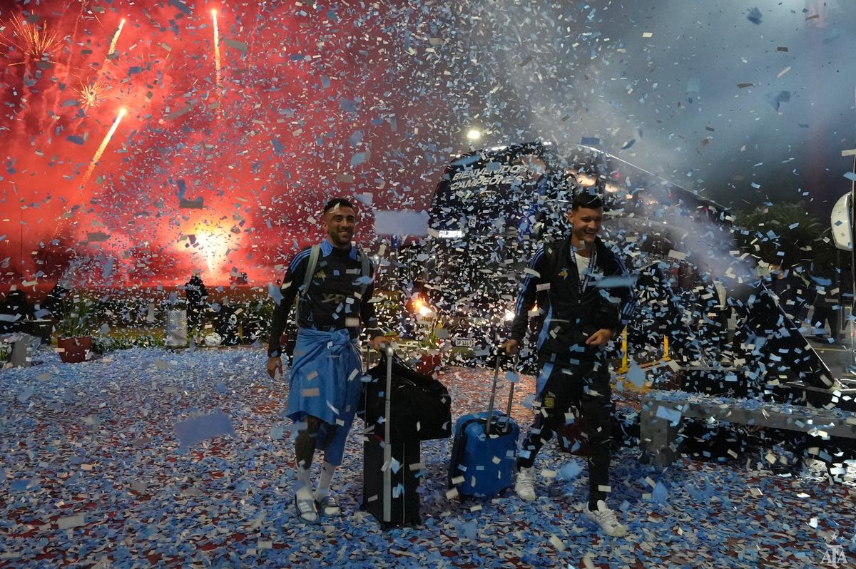
[[[669,356],[702,369],[722,368],[726,360],[729,370],[718,376],[730,379],[752,359],[740,352],[741,344],[775,330],[776,341],[766,347],[774,360],[773,351],[783,347],[804,354],[782,386],[800,380],[827,389],[834,383],[765,292],[754,259],[739,251],[728,208],[592,146],[560,150],[543,141],[453,157],[437,183],[429,235],[419,248],[421,275],[413,280],[449,344],[461,348],[458,359],[484,362],[508,335],[529,259],[545,240],[568,234],[573,194],[592,186],[604,199],[603,240],[639,277],[639,308],[627,330],[631,358],[643,363]],[[537,309],[530,315],[533,333],[540,325]],[[786,339],[778,337],[783,328]],[[720,379],[708,382],[737,394],[745,387],[735,390],[740,381]]]

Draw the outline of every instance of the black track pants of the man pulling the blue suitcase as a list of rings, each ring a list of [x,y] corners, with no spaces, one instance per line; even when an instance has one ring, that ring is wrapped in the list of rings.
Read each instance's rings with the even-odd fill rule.
[[[586,438],[589,447],[589,502],[606,501],[609,492],[609,438],[610,411],[612,404],[609,392],[609,371],[602,361],[583,362],[580,365],[562,367],[545,364],[541,373],[550,373],[536,401],[535,422],[524,439],[519,468],[529,468],[535,463],[538,451],[550,441],[553,431],[561,435],[566,416],[571,417],[571,408],[580,410],[586,422]],[[597,369],[595,369],[597,368]],[[522,456],[529,451],[528,456]]]

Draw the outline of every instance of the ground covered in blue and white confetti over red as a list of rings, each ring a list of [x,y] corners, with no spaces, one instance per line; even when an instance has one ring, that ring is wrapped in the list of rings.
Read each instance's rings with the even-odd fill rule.
[[[447,500],[450,440],[423,444],[425,525],[383,532],[359,510],[359,421],[334,482],[342,518],[306,525],[291,503],[287,388],[266,375],[262,349],[37,359],[0,376],[0,566],[815,567],[835,559],[830,551],[856,560],[852,483],[831,484],[811,465],[794,477],[739,461],[681,459],[663,471],[631,448],[612,465],[626,538],[581,519],[585,467],[570,480],[539,477],[534,502],[510,491]],[[453,416],[485,406],[490,371],[447,368],[441,378]],[[524,427],[532,387],[524,376],[515,396]],[[218,411],[235,436],[182,450],[175,424]],[[563,469],[572,462],[585,466],[551,442],[537,465],[580,470]]]

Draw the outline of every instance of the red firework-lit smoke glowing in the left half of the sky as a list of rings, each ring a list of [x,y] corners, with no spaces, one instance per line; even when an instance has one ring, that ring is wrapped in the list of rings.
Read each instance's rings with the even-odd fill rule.
[[[429,108],[443,105],[401,89],[418,65],[396,52],[419,15],[142,4],[0,13],[17,26],[3,31],[15,41],[0,39],[3,282],[55,278],[72,258],[79,281],[184,282],[199,269],[208,282],[235,270],[265,282],[320,237],[307,217],[334,195],[384,204],[404,185],[413,191],[396,203],[427,206],[437,166],[395,155],[420,144]],[[18,27],[57,41],[22,52]]]

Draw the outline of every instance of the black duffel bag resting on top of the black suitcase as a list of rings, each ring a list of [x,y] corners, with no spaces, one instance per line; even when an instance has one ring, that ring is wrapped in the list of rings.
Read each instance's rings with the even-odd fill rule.
[[[449,391],[431,376],[413,370],[397,355],[392,357],[392,400],[389,424],[393,441],[431,441],[452,435],[452,398]],[[360,416],[366,427],[383,436],[383,390],[386,388],[386,356],[368,370],[372,377],[360,397]]]

